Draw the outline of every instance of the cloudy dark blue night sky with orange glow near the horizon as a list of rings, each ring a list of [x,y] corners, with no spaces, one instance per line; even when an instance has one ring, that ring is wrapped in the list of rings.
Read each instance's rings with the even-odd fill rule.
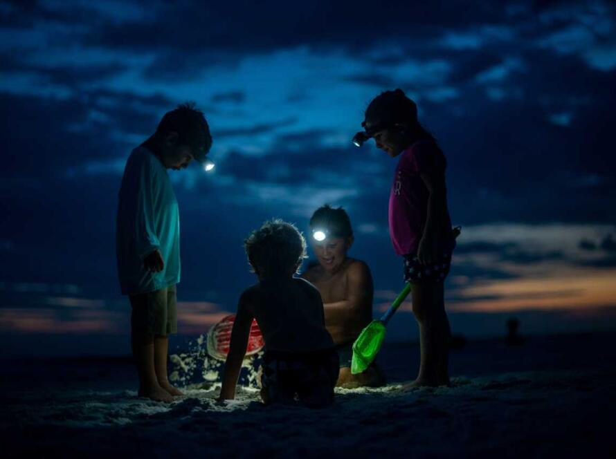
[[[375,313],[386,308],[403,286],[387,228],[396,160],[350,139],[372,97],[397,87],[449,162],[463,227],[446,290],[454,332],[498,335],[507,315],[534,332],[616,324],[615,3],[254,3],[0,3],[6,355],[129,352],[120,178],[188,100],[217,167],[170,171],[180,334],[235,310],[255,281],[251,229],[281,217],[306,232],[325,203],[349,212],[350,255],[370,265]],[[405,308],[392,339],[416,333]]]

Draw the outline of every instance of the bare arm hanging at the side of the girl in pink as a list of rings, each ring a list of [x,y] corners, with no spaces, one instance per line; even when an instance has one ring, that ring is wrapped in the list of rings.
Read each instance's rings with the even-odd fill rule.
[[[442,231],[448,212],[445,180],[442,175],[435,176],[426,172],[422,172],[419,176],[428,189],[428,211],[424,234],[419,241],[417,259],[422,264],[435,263],[440,252],[438,244],[442,235],[439,233]]]

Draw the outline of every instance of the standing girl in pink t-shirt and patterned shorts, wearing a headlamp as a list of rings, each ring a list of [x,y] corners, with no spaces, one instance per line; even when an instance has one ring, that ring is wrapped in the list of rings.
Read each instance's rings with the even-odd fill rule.
[[[354,143],[374,138],[377,148],[399,158],[389,199],[389,229],[395,252],[404,259],[413,314],[419,324],[421,364],[407,387],[449,384],[451,331],[443,281],[449,273],[455,236],[445,186],[446,160],[431,133],[417,120],[417,106],[401,89],[370,102]]]

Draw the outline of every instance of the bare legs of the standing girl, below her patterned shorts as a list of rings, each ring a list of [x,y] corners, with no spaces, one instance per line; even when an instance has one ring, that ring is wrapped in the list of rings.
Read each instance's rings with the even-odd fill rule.
[[[421,362],[417,380],[407,387],[449,384],[451,330],[444,307],[442,283],[413,284],[413,313],[419,324]]]

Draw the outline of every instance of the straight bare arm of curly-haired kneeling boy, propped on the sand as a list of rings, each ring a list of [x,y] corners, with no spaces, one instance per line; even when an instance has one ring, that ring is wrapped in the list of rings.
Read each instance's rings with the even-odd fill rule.
[[[224,366],[220,400],[233,400],[235,398],[235,386],[237,386],[239,371],[242,369],[242,362],[246,355],[253,317],[254,315],[249,306],[248,294],[244,292],[242,297],[239,298],[237,314],[235,315],[233,329],[231,330],[229,353]]]

